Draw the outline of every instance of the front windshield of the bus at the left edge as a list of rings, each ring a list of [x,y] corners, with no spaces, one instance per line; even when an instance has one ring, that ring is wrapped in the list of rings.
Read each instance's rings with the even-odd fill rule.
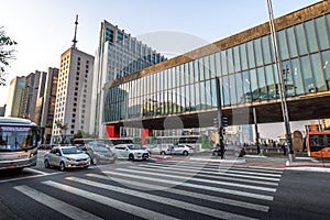
[[[23,151],[35,145],[36,128],[0,125],[0,152]]]

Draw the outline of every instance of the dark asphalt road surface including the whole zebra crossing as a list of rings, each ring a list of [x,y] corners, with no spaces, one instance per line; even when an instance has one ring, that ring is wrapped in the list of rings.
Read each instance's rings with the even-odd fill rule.
[[[329,173],[261,165],[117,161],[62,173],[38,163],[0,174],[0,219],[329,219]]]

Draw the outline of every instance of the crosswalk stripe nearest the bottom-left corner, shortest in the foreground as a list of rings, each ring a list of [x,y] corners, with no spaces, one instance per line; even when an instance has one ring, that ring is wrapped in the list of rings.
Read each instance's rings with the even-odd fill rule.
[[[84,211],[82,209],[79,209],[77,207],[74,207],[69,204],[66,204],[64,201],[61,201],[58,199],[55,199],[51,196],[47,196],[41,191],[37,191],[33,188],[30,188],[29,186],[21,185],[21,186],[15,186],[14,189],[18,191],[29,196],[30,198],[47,206],[51,209],[54,209],[56,211],[59,211],[61,213],[67,216],[68,218],[72,219],[77,219],[77,220],[100,220],[101,218],[89,213],[87,211]]]

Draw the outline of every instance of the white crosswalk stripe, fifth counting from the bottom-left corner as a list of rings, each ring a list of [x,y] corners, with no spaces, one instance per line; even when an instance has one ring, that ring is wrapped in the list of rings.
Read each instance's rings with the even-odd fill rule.
[[[255,199],[263,199],[263,200],[273,200],[274,199],[273,196],[266,196],[266,195],[260,195],[260,194],[253,194],[253,193],[246,193],[246,191],[240,191],[240,190],[232,190],[232,189],[226,189],[226,188],[219,188],[219,187],[211,187],[211,186],[206,186],[206,185],[174,182],[174,180],[168,180],[168,179],[152,178],[152,177],[145,177],[145,176],[141,176],[141,175],[138,176],[138,175],[132,175],[132,174],[122,174],[122,173],[116,173],[116,172],[109,172],[109,170],[103,170],[102,173],[129,177],[129,178],[160,182],[160,183],[164,183],[164,184],[166,183],[166,184],[170,184],[170,185],[187,186],[187,187],[191,187],[191,188],[198,188],[198,189],[223,193],[223,194],[231,194],[231,195],[250,197],[250,198],[255,198]]]

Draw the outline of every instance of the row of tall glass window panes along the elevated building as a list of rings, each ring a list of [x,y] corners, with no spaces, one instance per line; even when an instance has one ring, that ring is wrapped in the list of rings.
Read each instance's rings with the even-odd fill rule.
[[[277,33],[287,96],[330,88],[330,15]],[[135,79],[106,91],[105,120],[216,108],[216,77],[222,106],[277,99],[279,84],[271,36]],[[107,113],[107,110],[111,114]]]

